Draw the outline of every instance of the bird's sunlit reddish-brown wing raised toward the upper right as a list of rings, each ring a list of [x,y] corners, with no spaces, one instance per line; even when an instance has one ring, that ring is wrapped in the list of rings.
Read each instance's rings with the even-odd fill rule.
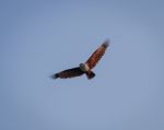
[[[92,56],[89,58],[89,60],[85,62],[90,69],[94,68],[96,63],[101,60],[103,55],[105,54],[106,48],[109,46],[109,42],[106,40],[102,44],[101,47],[98,47]]]

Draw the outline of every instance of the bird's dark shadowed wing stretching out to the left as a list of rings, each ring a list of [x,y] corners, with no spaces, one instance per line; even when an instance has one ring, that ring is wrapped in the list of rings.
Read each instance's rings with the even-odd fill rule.
[[[78,68],[72,68],[72,69],[68,69],[68,70],[63,70],[61,72],[58,72],[56,74],[52,75],[52,79],[67,79],[67,78],[74,78],[74,76],[80,76],[82,75],[84,72],[78,67]]]

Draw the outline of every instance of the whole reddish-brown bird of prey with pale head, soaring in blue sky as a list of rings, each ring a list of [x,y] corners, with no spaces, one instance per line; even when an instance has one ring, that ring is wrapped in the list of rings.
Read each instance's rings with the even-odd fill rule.
[[[106,48],[109,46],[109,42],[105,40],[87,59],[85,63],[80,63],[79,67],[63,70],[61,72],[55,73],[52,79],[68,79],[75,78],[83,74],[86,74],[87,79],[91,80],[95,76],[95,73],[92,69],[96,66],[96,63],[101,60],[102,56],[105,54]]]

